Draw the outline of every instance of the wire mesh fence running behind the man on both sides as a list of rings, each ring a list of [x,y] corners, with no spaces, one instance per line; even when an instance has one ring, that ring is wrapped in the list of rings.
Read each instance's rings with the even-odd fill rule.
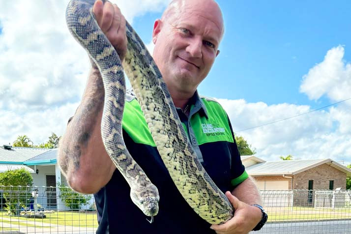
[[[351,234],[351,190],[261,193],[269,218],[252,234]],[[93,234],[98,226],[92,195],[68,187],[0,186],[0,213],[4,234]]]

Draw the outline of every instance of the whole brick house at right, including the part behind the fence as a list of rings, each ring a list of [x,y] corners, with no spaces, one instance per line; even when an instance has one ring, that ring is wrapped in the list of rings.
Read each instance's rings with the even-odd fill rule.
[[[266,162],[252,155],[242,156],[241,160],[258,188],[264,190],[265,206],[322,204],[326,207],[326,204],[335,205],[336,199],[338,205],[345,205],[345,195],[337,194],[335,189],[346,189],[346,177],[351,177],[351,169],[332,159]]]

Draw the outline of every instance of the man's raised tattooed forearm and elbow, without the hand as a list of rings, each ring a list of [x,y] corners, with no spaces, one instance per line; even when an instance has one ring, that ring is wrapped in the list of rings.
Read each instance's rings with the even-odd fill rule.
[[[97,192],[115,170],[101,138],[103,106],[104,87],[100,72],[92,65],[82,102],[59,144],[61,171],[78,192]]]

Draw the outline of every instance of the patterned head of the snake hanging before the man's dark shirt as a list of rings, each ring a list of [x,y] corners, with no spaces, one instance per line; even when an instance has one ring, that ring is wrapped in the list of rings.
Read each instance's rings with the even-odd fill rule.
[[[130,197],[135,205],[143,211],[146,216],[155,216],[158,213],[158,201],[160,197],[155,185],[147,181],[143,186],[136,185],[130,190]]]

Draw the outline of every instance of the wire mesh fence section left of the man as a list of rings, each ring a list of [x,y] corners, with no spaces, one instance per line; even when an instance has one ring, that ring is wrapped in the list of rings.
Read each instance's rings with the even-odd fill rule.
[[[94,234],[92,195],[68,187],[0,186],[0,233]]]

